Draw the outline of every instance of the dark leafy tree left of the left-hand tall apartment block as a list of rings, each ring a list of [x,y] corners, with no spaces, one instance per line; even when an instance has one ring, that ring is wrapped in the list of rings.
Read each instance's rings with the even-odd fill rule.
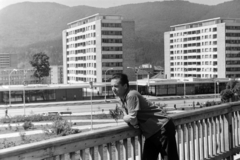
[[[41,82],[43,77],[49,76],[49,72],[51,70],[49,57],[45,53],[40,52],[34,54],[30,60],[30,64],[36,69],[33,75],[39,79],[39,82]]]

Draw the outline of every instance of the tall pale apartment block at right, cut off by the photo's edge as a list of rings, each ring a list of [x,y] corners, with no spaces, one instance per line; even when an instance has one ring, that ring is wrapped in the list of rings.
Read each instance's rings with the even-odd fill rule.
[[[240,77],[240,19],[170,26],[164,34],[164,55],[167,78]]]

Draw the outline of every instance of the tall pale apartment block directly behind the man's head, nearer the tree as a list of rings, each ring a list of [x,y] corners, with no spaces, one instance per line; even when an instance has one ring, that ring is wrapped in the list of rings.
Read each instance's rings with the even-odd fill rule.
[[[134,21],[118,15],[95,14],[68,23],[63,31],[64,83],[105,82],[135,66]]]

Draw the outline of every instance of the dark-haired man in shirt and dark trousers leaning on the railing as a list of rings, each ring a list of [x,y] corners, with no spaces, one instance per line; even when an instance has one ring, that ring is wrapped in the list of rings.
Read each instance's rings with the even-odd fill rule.
[[[135,90],[129,90],[126,74],[116,73],[111,79],[112,91],[120,98],[123,120],[140,128],[145,136],[143,160],[178,160],[175,126],[164,112]]]

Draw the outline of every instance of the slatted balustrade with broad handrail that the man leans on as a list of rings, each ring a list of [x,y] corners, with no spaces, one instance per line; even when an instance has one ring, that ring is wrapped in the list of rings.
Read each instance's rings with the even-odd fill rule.
[[[240,103],[172,116],[180,160],[232,160],[240,153]],[[1,160],[141,160],[139,130],[119,125],[0,150]]]

